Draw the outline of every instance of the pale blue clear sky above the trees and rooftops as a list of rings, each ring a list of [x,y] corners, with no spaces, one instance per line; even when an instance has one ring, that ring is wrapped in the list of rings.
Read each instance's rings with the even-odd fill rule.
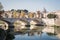
[[[38,11],[45,8],[47,11],[60,10],[60,0],[0,0],[4,10],[27,9]]]

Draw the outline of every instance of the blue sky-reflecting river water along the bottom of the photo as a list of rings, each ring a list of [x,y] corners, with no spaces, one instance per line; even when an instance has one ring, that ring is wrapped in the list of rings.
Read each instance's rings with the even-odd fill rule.
[[[60,39],[58,39],[54,35],[49,36],[46,33],[34,34],[34,35],[28,35],[26,33],[24,35],[15,35],[15,39],[14,40],[60,40]]]

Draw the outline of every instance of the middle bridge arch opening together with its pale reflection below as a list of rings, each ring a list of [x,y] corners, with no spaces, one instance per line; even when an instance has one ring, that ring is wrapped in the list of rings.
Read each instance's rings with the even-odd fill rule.
[[[14,25],[14,30],[15,31],[20,31],[21,29],[27,29],[27,27],[25,25],[28,24],[28,21],[26,20],[16,20],[13,25]]]

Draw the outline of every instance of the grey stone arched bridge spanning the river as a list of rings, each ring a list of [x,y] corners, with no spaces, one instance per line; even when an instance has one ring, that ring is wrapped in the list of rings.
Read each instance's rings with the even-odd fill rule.
[[[36,18],[33,18],[33,19],[35,20]],[[30,21],[33,20],[33,19],[30,19],[30,18],[2,18],[0,20],[6,22],[8,24],[9,28],[14,28],[13,24],[17,20],[24,20],[24,21],[28,22],[27,24],[29,24]],[[37,19],[37,20],[41,21],[41,19]]]

